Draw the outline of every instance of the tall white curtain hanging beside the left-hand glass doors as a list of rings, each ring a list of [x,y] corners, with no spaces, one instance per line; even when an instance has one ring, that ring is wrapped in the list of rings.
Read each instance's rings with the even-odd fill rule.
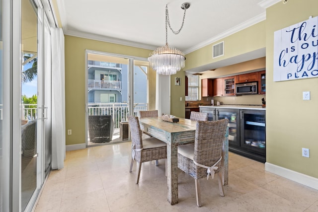
[[[64,34],[51,28],[52,45],[52,169],[64,167],[65,159],[65,57]]]

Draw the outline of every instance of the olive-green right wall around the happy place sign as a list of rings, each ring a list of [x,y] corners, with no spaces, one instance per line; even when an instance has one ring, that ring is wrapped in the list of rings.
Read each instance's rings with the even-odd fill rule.
[[[273,47],[276,30],[317,16],[317,8],[317,0],[290,0],[266,10],[267,161],[315,178],[318,178],[318,78],[274,82]],[[311,91],[310,101],[302,100],[303,91]],[[310,158],[302,157],[302,147],[310,149]]]

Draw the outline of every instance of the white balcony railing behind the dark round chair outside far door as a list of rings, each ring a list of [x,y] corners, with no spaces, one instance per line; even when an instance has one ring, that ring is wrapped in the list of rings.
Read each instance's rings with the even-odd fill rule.
[[[88,115],[112,115],[115,128],[119,128],[122,120],[127,121],[129,114],[139,116],[139,111],[148,110],[147,103],[135,103],[133,114],[128,113],[127,103],[89,103],[88,104]]]

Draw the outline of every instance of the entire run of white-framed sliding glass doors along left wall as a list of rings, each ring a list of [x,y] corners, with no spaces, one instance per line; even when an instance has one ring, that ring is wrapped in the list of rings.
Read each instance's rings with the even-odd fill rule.
[[[32,211],[50,170],[50,40],[41,0],[0,0],[0,212]]]

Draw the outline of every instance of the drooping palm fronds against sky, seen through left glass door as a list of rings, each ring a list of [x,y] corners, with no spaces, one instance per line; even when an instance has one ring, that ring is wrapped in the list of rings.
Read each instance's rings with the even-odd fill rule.
[[[37,54],[36,53],[35,54],[24,53],[23,59],[24,59],[24,62],[22,65],[32,64],[31,68],[29,68],[25,71],[22,71],[22,73],[21,73],[21,81],[22,81],[22,83],[25,83],[28,81],[32,81],[38,73]]]

